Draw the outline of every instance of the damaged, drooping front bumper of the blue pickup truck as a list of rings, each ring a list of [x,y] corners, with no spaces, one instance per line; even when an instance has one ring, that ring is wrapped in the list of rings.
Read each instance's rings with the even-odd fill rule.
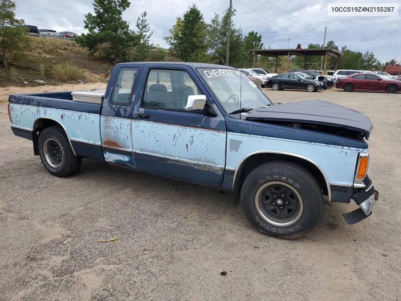
[[[372,208],[379,198],[379,192],[375,190],[368,176],[364,179],[365,187],[353,188],[351,198],[359,206],[352,212],[344,214],[344,219],[350,225],[360,222],[372,214]]]

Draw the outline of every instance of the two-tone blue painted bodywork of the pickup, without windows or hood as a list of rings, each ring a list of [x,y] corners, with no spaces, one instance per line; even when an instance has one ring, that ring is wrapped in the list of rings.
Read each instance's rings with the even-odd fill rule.
[[[130,104],[113,105],[114,82],[123,67],[138,67],[137,80]],[[143,108],[151,68],[188,72],[217,116]],[[225,189],[234,188],[241,164],[258,153],[285,154],[314,164],[326,180],[329,198],[330,186],[352,186],[357,156],[367,152],[366,142],[227,116],[196,68],[191,63],[117,64],[102,105],[73,102],[71,92],[12,95],[12,127],[27,136],[37,120],[49,118],[65,129],[76,155]]]

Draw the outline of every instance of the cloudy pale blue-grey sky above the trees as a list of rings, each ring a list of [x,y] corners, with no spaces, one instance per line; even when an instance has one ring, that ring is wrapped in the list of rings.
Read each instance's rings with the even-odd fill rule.
[[[134,28],[136,18],[146,10],[148,22],[154,31],[152,42],[166,47],[163,37],[175,23],[177,16],[182,16],[188,5],[196,3],[207,22],[215,12],[223,14],[229,6],[229,0],[131,0],[131,6],[123,13],[124,20]],[[401,13],[399,16],[353,16],[328,17],[327,3],[377,3],[371,1],[344,0],[233,0],[237,13],[233,20],[243,28],[243,34],[254,30],[262,35],[262,42],[267,48],[290,48],[297,44],[307,47],[309,43],[323,43],[324,27],[328,33],[326,42],[333,40],[339,48],[366,52],[373,51],[380,61],[387,61],[397,56],[401,59]],[[398,3],[401,0],[386,2]],[[84,14],[93,12],[92,0],[16,0],[16,13],[25,24],[56,31],[85,32]]]

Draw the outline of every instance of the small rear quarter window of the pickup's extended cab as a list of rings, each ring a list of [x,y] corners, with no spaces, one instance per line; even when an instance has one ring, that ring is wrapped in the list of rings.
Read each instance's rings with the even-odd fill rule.
[[[122,106],[130,106],[131,104],[131,91],[134,87],[136,75],[139,68],[121,68],[117,81],[113,87],[113,96],[111,97],[111,104],[119,104]]]

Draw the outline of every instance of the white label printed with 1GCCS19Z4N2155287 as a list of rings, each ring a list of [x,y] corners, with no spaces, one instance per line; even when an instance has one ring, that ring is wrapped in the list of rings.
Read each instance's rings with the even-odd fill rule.
[[[398,3],[328,3],[328,16],[398,16]]]

